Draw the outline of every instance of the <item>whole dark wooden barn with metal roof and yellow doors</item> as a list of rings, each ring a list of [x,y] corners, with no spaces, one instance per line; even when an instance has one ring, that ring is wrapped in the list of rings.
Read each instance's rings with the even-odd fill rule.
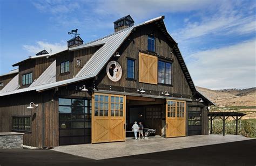
[[[58,53],[45,50],[0,76],[0,132],[24,145],[125,141],[134,121],[165,138],[208,134],[210,100],[197,91],[164,16]]]

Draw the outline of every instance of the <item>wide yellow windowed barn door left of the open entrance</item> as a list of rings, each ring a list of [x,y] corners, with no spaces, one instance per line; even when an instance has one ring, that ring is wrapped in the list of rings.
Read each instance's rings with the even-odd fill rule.
[[[92,143],[125,141],[125,96],[92,97]]]

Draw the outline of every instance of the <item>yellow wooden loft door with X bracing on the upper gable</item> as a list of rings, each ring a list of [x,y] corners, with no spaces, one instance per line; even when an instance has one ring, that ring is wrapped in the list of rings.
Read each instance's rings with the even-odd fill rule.
[[[157,84],[157,56],[139,53],[139,82]]]

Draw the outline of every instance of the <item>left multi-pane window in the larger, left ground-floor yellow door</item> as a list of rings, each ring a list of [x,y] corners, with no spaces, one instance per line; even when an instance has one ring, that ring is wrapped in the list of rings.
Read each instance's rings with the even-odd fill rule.
[[[95,116],[109,116],[109,96],[95,95]]]

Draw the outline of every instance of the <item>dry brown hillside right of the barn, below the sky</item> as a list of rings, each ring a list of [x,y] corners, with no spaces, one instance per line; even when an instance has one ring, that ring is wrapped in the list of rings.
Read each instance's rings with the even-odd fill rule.
[[[256,106],[256,88],[211,90],[197,86],[197,89],[219,107]]]

